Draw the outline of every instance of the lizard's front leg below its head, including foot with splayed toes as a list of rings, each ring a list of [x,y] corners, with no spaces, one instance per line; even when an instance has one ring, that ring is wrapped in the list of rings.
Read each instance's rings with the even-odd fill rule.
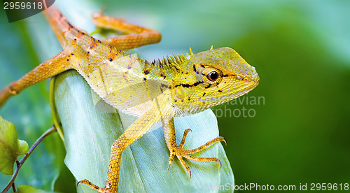
[[[193,157],[191,154],[195,152],[200,152],[201,150],[204,150],[205,148],[209,147],[209,145],[216,143],[216,141],[224,141],[226,143],[225,138],[218,136],[214,138],[213,140],[205,143],[204,145],[200,146],[199,148],[195,148],[193,150],[185,150],[183,149],[183,145],[186,142],[186,136],[190,129],[186,129],[183,138],[181,140],[181,143],[179,145],[176,144],[176,134],[175,134],[175,128],[174,128],[174,118],[169,118],[163,120],[163,131],[165,136],[165,141],[167,142],[167,147],[170,151],[170,157],[169,157],[169,168],[170,165],[173,162],[174,156],[178,157],[180,160],[181,165],[186,169],[186,171],[190,174],[191,178],[191,170],[190,167],[186,164],[186,162],[183,160],[183,158],[191,159],[196,162],[216,162],[220,164],[221,162],[218,158],[215,157]]]

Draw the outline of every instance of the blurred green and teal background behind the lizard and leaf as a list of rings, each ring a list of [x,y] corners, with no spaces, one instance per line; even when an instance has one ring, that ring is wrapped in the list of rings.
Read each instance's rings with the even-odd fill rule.
[[[137,49],[146,59],[186,53],[189,47],[201,52],[214,45],[234,48],[255,66],[260,85],[244,99],[262,96],[265,103],[225,103],[214,108],[214,113],[243,107],[255,112],[254,117],[228,113],[218,117],[220,135],[228,140],[225,150],[236,185],[296,185],[298,190],[300,183],[350,183],[350,1],[55,4],[64,14],[73,14],[72,23],[88,32],[94,28],[87,15],[101,8],[108,15],[157,29],[162,41]],[[41,32],[33,33],[35,29]],[[8,24],[1,10],[0,36],[0,87],[62,49],[41,14]],[[52,124],[48,82],[10,99],[0,115],[15,124],[18,138],[31,145]],[[21,172],[33,180],[23,183],[50,190],[50,182],[41,182],[61,173],[57,190],[74,188],[72,177],[66,177],[62,142],[50,136],[43,144],[26,162],[27,172]],[[1,175],[1,190],[6,183]]]

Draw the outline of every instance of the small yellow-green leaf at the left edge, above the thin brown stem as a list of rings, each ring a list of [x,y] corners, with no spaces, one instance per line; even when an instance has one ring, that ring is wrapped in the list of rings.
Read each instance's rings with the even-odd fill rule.
[[[0,171],[13,174],[13,164],[19,155],[28,152],[28,143],[18,140],[15,125],[0,116]]]

